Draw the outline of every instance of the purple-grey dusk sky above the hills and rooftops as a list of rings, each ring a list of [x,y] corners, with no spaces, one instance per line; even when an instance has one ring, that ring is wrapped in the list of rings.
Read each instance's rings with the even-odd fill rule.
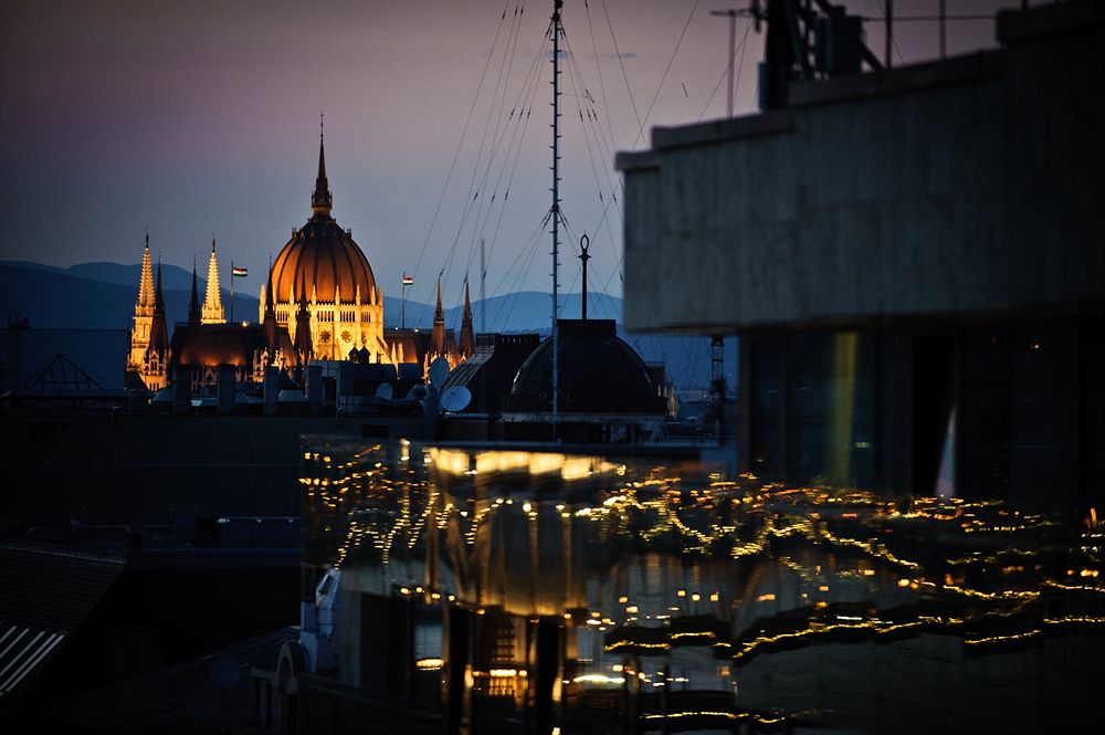
[[[877,0],[846,4],[882,12]],[[948,3],[949,12],[987,15],[1018,4]],[[579,290],[575,239],[586,232],[590,283],[620,295],[620,195],[619,206],[604,207],[620,188],[612,153],[648,147],[653,125],[725,115],[728,21],[709,11],[747,3],[565,6],[572,59],[561,77],[562,207],[571,238],[562,282]],[[898,0],[895,12],[928,15],[936,7]],[[165,262],[190,267],[196,255],[202,273],[213,234],[223,277],[231,260],[248,266],[239,287],[256,295],[270,253],[311,213],[325,112],[334,217],[351,228],[386,294],[399,294],[406,271],[415,276],[411,298],[431,300],[444,269],[446,305],[461,298],[465,273],[475,296],[481,237],[488,296],[548,290],[549,238],[533,235],[549,208],[550,65],[539,54],[550,8],[551,0],[7,0],[0,258],[135,263],[148,228]],[[755,112],[762,50],[748,24],[737,21],[738,115]],[[934,22],[903,22],[895,33],[896,63],[938,53]],[[951,22],[949,53],[992,46],[993,36],[992,21]],[[867,24],[867,41],[881,56],[881,25]],[[580,84],[593,105],[580,102]],[[533,108],[523,125],[508,116],[517,99]],[[580,122],[581,104],[597,122]]]

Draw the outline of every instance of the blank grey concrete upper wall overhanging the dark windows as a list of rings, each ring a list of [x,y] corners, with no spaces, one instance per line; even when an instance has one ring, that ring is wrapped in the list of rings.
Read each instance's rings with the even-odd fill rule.
[[[619,154],[627,327],[1099,309],[1105,3],[1003,13],[998,35]]]

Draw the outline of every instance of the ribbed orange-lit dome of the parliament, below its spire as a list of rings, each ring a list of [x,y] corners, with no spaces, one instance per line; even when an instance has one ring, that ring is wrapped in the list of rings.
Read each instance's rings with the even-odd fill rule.
[[[287,241],[273,261],[273,298],[283,301],[288,292],[299,297],[299,284],[316,290],[320,302],[333,302],[337,286],[341,286],[341,301],[350,303],[360,286],[360,300],[368,303],[376,288],[376,276],[365,253],[348,232],[338,227],[329,214],[316,213],[303,229]]]

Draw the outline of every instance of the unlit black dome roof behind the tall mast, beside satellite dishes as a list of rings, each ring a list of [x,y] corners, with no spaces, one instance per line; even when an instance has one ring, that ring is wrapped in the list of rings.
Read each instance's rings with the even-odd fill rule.
[[[663,412],[644,360],[618,336],[613,319],[559,319],[560,409],[566,411]],[[548,410],[552,393],[552,340],[526,358],[514,378],[514,408]],[[536,402],[535,402],[536,399]]]

